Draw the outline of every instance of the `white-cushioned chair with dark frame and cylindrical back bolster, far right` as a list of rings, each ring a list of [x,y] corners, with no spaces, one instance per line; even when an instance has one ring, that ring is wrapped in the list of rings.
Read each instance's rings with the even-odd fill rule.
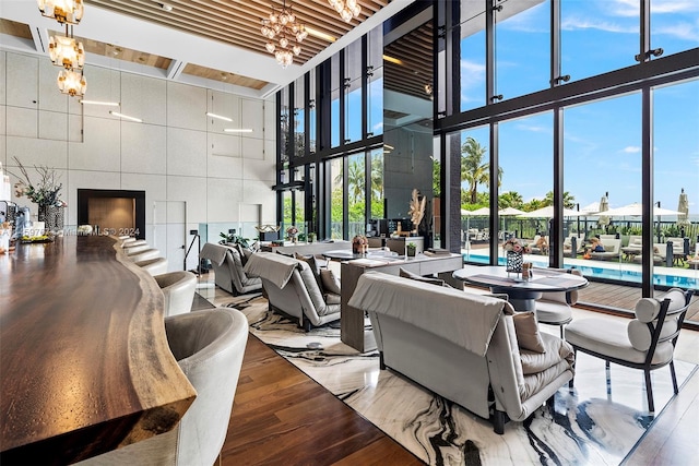
[[[566,330],[566,340],[576,355],[582,351],[604,359],[607,377],[611,362],[642,370],[648,409],[654,413],[651,371],[670,366],[673,389],[679,392],[673,354],[692,295],[692,290],[672,288],[662,300],[641,298],[636,303],[635,319],[628,323],[600,318],[576,320]],[[573,380],[569,385],[573,386]]]

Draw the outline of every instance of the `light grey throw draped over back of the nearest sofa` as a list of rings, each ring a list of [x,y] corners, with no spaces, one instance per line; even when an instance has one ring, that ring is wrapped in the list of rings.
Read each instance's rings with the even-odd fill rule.
[[[350,306],[391,315],[485,356],[500,313],[501,299],[426,285],[378,272],[359,277]]]

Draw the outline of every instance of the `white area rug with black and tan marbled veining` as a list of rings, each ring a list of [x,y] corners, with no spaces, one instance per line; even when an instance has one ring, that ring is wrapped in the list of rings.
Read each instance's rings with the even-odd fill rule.
[[[305,333],[269,312],[261,295],[217,304],[244,312],[252,334],[430,465],[618,465],[654,420],[644,407],[642,371],[612,365],[607,386],[604,361],[579,354],[574,390],[561,387],[553,407],[508,422],[498,435],[487,420],[379,370],[377,351],[360,354],[340,340],[339,322]],[[683,361],[675,367],[680,384],[696,371]],[[659,416],[673,395],[672,381],[668,369],[652,378]]]

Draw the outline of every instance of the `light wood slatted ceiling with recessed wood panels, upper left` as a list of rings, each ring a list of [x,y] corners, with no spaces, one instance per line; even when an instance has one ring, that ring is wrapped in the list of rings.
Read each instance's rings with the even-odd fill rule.
[[[330,7],[328,0],[288,0],[285,4],[293,9],[299,23],[334,38],[340,38],[389,2],[390,0],[359,0],[362,14],[350,23],[345,23],[340,17]],[[269,55],[264,49],[266,39],[260,32],[261,20],[269,16],[272,7],[281,8],[284,0],[85,0],[85,10],[90,4],[98,5],[102,9],[127,16]],[[166,11],[163,4],[170,5],[171,10]],[[327,39],[309,35],[301,43],[301,53],[294,58],[294,62],[303,64],[329,45]],[[85,49],[88,52],[97,53],[100,48],[102,46],[92,45],[87,50],[87,44],[85,44]],[[110,52],[108,49],[108,45],[105,45],[104,55]],[[131,56],[139,60],[137,62],[164,62],[163,58],[149,57],[147,53],[139,51],[133,51]],[[123,59],[128,59],[126,57],[125,53]],[[165,58],[165,60],[168,59]],[[260,89],[266,84],[263,81],[237,75],[237,80],[233,80],[232,77],[235,76],[230,73],[199,67],[197,63],[188,63],[182,72],[256,89]]]

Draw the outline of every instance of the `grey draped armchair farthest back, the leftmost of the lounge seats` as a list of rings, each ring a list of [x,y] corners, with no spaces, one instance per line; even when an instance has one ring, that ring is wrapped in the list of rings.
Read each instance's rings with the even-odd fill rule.
[[[244,258],[237,248],[208,242],[201,249],[199,256],[211,261],[216,285],[222,289],[234,295],[262,289],[262,280],[249,276],[244,271],[247,258]]]

